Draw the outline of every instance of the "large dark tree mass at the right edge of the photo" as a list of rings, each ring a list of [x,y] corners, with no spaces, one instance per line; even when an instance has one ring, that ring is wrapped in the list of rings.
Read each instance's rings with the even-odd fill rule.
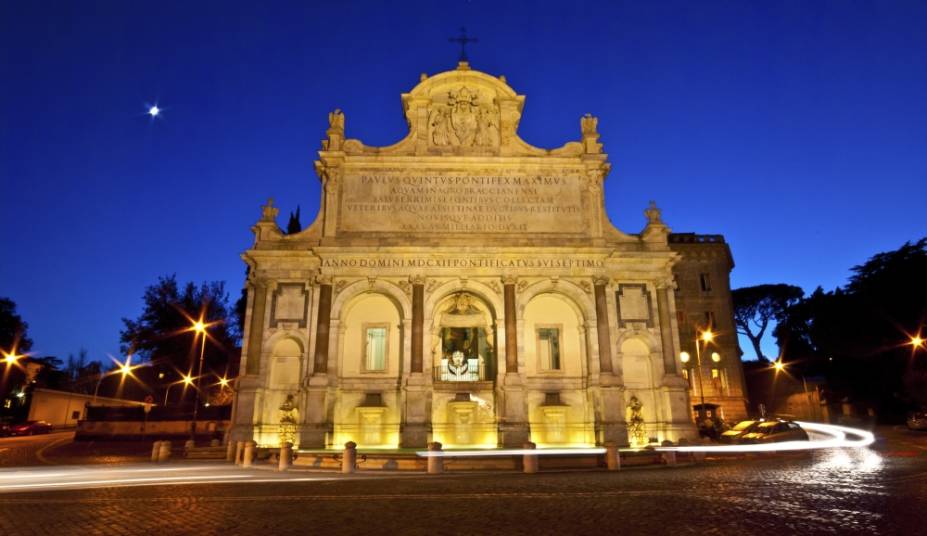
[[[824,376],[828,399],[848,399],[886,420],[927,405],[927,239],[878,253],[849,283],[790,306],[776,337],[793,369]]]

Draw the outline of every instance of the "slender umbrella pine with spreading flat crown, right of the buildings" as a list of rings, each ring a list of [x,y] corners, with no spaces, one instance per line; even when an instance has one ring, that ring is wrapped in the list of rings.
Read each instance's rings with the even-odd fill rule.
[[[757,285],[734,289],[734,323],[737,332],[753,344],[757,359],[766,360],[760,346],[771,322],[783,319],[786,309],[804,296],[800,287],[786,284]]]

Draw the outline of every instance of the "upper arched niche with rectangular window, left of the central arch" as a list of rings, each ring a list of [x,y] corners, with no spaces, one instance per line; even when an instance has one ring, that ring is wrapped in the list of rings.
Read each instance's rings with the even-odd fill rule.
[[[402,316],[394,297],[374,291],[359,293],[340,312],[341,375],[398,376]]]

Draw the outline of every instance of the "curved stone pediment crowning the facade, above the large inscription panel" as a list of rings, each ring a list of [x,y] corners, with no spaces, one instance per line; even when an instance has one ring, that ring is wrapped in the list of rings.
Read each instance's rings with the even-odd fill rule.
[[[341,149],[347,155],[460,155],[460,156],[579,156],[588,151],[582,141],[568,142],[556,149],[534,147],[518,137],[518,123],[525,105],[504,76],[471,70],[466,63],[457,69],[428,77],[402,95],[402,107],[409,125],[408,135],[386,147],[364,145],[360,140],[343,143],[335,136],[323,142],[327,150]],[[340,116],[343,139],[344,116]],[[598,135],[596,134],[596,138]],[[594,144],[594,153],[601,146]]]

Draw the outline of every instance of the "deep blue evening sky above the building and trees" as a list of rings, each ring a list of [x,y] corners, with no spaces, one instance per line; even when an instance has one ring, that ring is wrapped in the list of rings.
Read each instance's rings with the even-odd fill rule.
[[[159,275],[234,299],[260,204],[313,219],[327,113],[397,141],[400,93],[454,67],[461,25],[527,95],[524,139],[597,115],[612,220],[638,232],[655,199],[723,233],[735,286],[830,289],[927,235],[925,2],[8,1],[0,296],[34,350],[116,354]]]

